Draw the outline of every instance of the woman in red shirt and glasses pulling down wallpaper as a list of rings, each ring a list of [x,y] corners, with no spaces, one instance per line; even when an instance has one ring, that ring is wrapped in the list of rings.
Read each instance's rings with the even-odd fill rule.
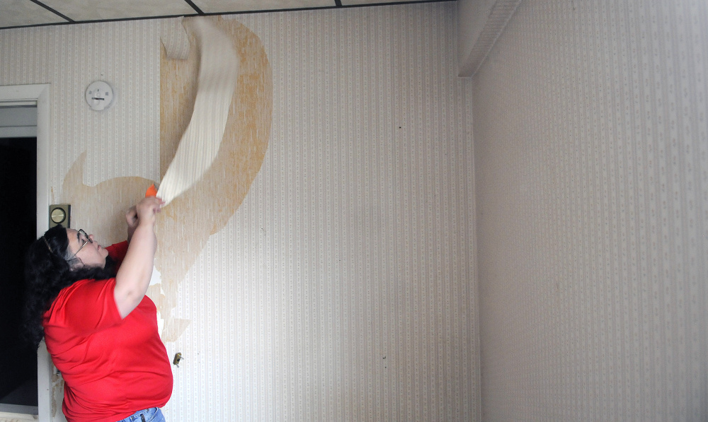
[[[30,246],[28,332],[35,345],[45,337],[64,377],[69,422],[164,421],[172,370],[145,295],[161,206],[148,197],[126,213],[126,242],[103,248],[84,230],[57,226]]]

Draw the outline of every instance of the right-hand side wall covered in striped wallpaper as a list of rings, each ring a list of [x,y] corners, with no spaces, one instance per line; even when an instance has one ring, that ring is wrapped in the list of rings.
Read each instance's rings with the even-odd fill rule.
[[[474,77],[484,420],[707,420],[707,27],[525,0]]]

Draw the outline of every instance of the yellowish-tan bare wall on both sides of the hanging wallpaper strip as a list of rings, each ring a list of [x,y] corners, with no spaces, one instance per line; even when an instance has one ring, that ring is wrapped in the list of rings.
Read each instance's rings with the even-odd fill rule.
[[[171,315],[177,285],[210,235],[234,215],[261,169],[268,148],[273,114],[273,77],[258,36],[236,20],[216,18],[217,27],[234,40],[241,61],[239,81],[229,110],[222,146],[204,178],[163,209],[156,230],[159,248],[155,266],[161,273],[164,296],[156,301],[166,320],[163,339],[175,341],[185,327]],[[185,25],[189,28],[189,25]],[[190,34],[190,38],[193,37]],[[190,39],[190,45],[196,45]],[[188,59],[160,61],[160,172],[166,172],[192,113],[199,54]]]

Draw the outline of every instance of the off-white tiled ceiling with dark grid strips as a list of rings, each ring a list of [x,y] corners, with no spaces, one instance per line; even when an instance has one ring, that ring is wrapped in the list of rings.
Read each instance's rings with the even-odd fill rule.
[[[431,0],[0,0],[0,29],[427,1]]]

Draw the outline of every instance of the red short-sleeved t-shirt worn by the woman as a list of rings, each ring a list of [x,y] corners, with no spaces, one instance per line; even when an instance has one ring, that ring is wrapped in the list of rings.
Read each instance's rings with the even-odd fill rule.
[[[106,248],[118,262],[127,242]],[[69,422],[115,422],[172,395],[172,369],[147,297],[125,319],[113,298],[115,279],[63,288],[44,315],[47,350],[64,377]]]

